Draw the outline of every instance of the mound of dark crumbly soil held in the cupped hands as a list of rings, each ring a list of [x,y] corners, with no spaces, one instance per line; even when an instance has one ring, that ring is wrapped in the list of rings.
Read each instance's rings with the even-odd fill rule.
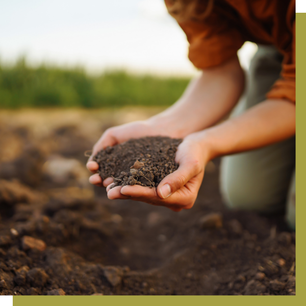
[[[164,177],[175,171],[175,152],[182,139],[143,137],[107,147],[93,158],[104,180],[114,177],[114,185],[157,187]]]

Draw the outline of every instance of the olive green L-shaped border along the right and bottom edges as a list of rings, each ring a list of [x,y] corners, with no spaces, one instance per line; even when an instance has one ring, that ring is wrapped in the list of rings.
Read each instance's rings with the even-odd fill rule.
[[[305,291],[305,260],[303,260],[303,254],[305,254],[305,222],[303,218],[306,215],[306,179],[304,173],[306,173],[306,77],[304,71],[306,71],[306,13],[301,12],[296,14],[296,61],[297,61],[297,81],[296,81],[296,95],[297,95],[297,153],[296,153],[296,199],[297,199],[297,214],[296,214],[296,230],[297,230],[297,286],[296,296],[13,296],[13,306],[36,306],[36,305],[52,305],[56,302],[56,306],[62,306],[66,304],[73,304],[73,306],[84,306],[84,304],[100,305],[101,303],[106,305],[145,305],[156,306],[170,304],[176,305],[195,305],[212,302],[214,304],[224,305],[256,305],[262,306],[276,304],[279,305],[301,305],[304,304],[302,300]],[[302,258],[302,260],[299,260]]]

